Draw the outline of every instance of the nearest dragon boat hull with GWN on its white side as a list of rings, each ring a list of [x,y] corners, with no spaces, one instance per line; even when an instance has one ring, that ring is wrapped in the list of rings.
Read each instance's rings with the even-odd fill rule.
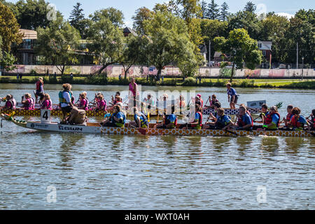
[[[32,130],[41,130],[47,132],[72,132],[72,133],[92,133],[92,134],[121,134],[121,135],[199,135],[199,136],[275,136],[275,137],[312,137],[315,132],[305,131],[287,131],[287,130],[275,130],[275,131],[243,131],[233,130],[225,132],[223,130],[182,130],[182,129],[155,129],[155,124],[150,124],[150,127],[146,129],[128,127],[102,127],[99,123],[86,123],[86,125],[61,125],[58,123],[39,123],[39,122],[27,122],[21,120],[15,120],[6,114],[1,114],[1,117],[11,121],[15,125],[26,127]]]

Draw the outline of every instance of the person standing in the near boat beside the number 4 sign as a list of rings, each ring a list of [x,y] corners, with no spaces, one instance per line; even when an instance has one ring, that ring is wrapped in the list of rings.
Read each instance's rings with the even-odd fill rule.
[[[62,109],[62,122],[66,122],[66,113],[70,113],[74,107],[73,103],[71,102],[72,99],[72,92],[71,88],[72,85],[66,83],[62,85],[63,91],[59,92],[59,107]]]

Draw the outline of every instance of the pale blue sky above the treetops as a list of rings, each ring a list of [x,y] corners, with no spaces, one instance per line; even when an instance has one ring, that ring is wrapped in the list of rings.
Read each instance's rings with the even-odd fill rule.
[[[16,2],[18,0],[7,0],[11,2]],[[146,7],[152,9],[156,3],[167,2],[166,0],[46,0],[57,8],[64,18],[69,18],[73,6],[76,5],[76,2],[82,4],[83,13],[85,17],[92,14],[95,10],[102,8],[117,8],[123,12],[125,17],[125,25],[127,27],[132,27],[132,15],[135,14],[135,11],[138,8]],[[210,3],[211,0],[204,0],[207,3]],[[246,5],[247,1],[252,1],[257,5],[256,13],[267,13],[274,11],[280,15],[287,15],[289,18],[293,16],[297,10],[304,8],[305,10],[314,9],[315,1],[313,0],[215,0],[215,2],[221,6],[223,2],[228,3],[230,7],[230,13],[236,13],[239,10],[242,10]]]

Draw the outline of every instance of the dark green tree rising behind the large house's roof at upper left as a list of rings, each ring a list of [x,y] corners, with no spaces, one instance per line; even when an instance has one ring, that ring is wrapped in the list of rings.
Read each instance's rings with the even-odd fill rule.
[[[18,1],[15,6],[18,7],[17,20],[21,28],[35,30],[37,27],[48,27],[50,24],[48,4],[45,0]]]

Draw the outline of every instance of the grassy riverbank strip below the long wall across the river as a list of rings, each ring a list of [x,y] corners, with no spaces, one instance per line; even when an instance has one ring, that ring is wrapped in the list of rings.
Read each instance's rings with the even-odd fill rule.
[[[25,76],[17,79],[16,76],[2,76],[0,83],[36,83],[38,76]],[[128,85],[128,79],[106,78],[105,76],[73,77],[50,76],[43,77],[46,84],[71,83],[77,85]],[[137,78],[139,85],[151,86],[196,86],[196,87],[225,87],[230,78],[164,78],[156,81],[153,78]],[[232,82],[234,87],[260,87],[260,88],[288,88],[288,89],[315,89],[315,80],[299,79],[235,79]]]

